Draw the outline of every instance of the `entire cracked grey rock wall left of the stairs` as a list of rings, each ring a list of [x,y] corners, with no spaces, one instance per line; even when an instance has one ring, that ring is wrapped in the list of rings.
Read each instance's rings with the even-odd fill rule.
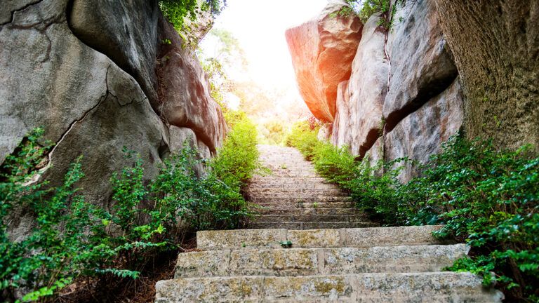
[[[79,155],[88,201],[140,154],[147,178],[185,140],[211,156],[225,135],[203,69],[155,0],[20,0],[0,8],[0,163],[30,130],[55,142],[52,184]]]

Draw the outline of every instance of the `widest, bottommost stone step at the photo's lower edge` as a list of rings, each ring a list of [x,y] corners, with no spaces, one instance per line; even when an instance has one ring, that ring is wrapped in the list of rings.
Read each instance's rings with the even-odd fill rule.
[[[501,302],[469,273],[239,276],[159,281],[156,303],[165,302]]]

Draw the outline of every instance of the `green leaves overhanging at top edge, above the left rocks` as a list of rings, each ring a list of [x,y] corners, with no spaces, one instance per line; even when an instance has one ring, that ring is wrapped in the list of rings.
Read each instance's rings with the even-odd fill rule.
[[[207,11],[214,16],[219,15],[226,4],[226,0],[159,0],[161,12],[178,31],[183,28],[185,18],[196,20],[202,11]]]

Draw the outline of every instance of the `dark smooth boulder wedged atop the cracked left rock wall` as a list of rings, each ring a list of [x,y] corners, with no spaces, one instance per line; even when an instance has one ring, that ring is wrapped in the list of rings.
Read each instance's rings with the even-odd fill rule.
[[[159,15],[157,0],[74,0],[69,12],[74,34],[133,76],[154,108]]]

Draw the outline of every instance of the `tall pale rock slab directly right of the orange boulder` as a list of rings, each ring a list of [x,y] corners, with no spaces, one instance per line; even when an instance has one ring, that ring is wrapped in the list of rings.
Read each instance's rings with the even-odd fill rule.
[[[350,133],[341,142],[347,144],[353,154],[363,156],[380,136],[382,107],[387,93],[387,58],[384,54],[385,34],[378,29],[378,17],[370,18],[361,34],[361,42],[352,62],[352,76],[348,81],[348,97],[343,97],[338,109],[339,119],[348,120]],[[338,131],[338,130],[337,130]]]

